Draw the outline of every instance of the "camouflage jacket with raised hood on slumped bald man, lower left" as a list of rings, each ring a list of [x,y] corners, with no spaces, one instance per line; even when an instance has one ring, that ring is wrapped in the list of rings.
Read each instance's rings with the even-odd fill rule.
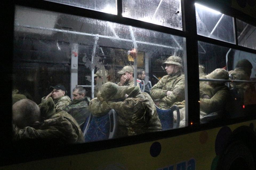
[[[58,143],[84,142],[84,137],[75,119],[63,110],[54,109],[51,97],[39,104],[42,122],[36,127],[19,129],[14,125],[14,139],[42,139],[42,141],[57,141]]]

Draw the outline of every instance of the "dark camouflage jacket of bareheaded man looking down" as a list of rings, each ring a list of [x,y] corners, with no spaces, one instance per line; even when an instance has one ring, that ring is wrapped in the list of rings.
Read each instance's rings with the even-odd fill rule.
[[[90,102],[89,97],[83,99],[72,100],[69,105],[67,105],[63,110],[68,112],[81,126],[86,118],[90,115],[88,106]]]

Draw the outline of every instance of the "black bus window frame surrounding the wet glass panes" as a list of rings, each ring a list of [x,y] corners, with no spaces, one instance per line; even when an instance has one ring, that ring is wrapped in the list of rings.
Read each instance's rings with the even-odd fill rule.
[[[186,43],[184,44],[184,49],[186,49],[185,53],[187,53],[187,57],[184,57],[184,65],[186,71],[185,71],[185,99],[186,99],[186,113],[188,114],[188,126],[184,128],[179,129],[173,129],[168,131],[161,131],[161,132],[154,132],[149,134],[141,134],[137,136],[130,136],[130,137],[124,137],[124,138],[118,138],[118,139],[110,139],[106,141],[97,141],[97,142],[90,142],[90,143],[81,143],[81,144],[74,144],[74,145],[67,145],[67,146],[38,146],[38,143],[35,143],[34,145],[31,145],[30,148],[22,148],[19,145],[13,147],[14,143],[11,140],[11,132],[12,132],[12,126],[11,126],[11,86],[4,88],[4,94],[3,97],[5,97],[5,107],[8,109],[4,109],[3,111],[9,114],[3,114],[2,118],[2,124],[5,127],[5,132],[3,133],[3,145],[1,147],[5,148],[5,152],[2,152],[2,154],[5,154],[6,157],[4,160],[1,161],[2,165],[8,165],[8,164],[14,164],[14,163],[22,163],[22,162],[28,162],[33,160],[39,160],[39,159],[48,159],[48,158],[54,158],[59,156],[68,156],[68,155],[74,155],[74,154],[83,154],[86,152],[93,152],[98,150],[104,150],[109,148],[115,148],[115,147],[121,147],[121,146],[127,146],[127,145],[133,145],[137,143],[143,143],[148,141],[153,141],[157,139],[163,139],[163,138],[169,138],[174,137],[182,134],[187,134],[195,131],[201,131],[216,127],[221,127],[224,125],[230,125],[238,122],[243,122],[246,120],[252,120],[255,117],[244,117],[244,118],[237,118],[232,119],[226,122],[220,122],[219,124],[200,124],[199,121],[199,77],[198,77],[198,41],[202,41],[205,43],[211,43],[215,45],[220,45],[228,48],[232,48],[235,50],[242,50],[245,52],[250,52],[256,54],[256,50],[246,48],[243,46],[238,46],[237,41],[236,44],[231,44],[227,42],[223,42],[220,40],[211,39],[208,37],[197,35],[197,27],[196,27],[196,18],[195,18],[195,6],[194,3],[198,2],[202,5],[206,5],[207,7],[213,7],[217,8],[218,11],[222,12],[223,14],[229,15],[234,17],[234,19],[238,18],[239,20],[249,23],[253,26],[255,26],[256,19],[252,18],[251,16],[248,16],[246,14],[243,14],[242,12],[239,12],[237,10],[234,10],[231,7],[224,6],[223,4],[219,4],[216,2],[204,2],[204,1],[195,1],[195,0],[182,0],[182,21],[183,21],[183,31],[164,27],[161,25],[155,25],[152,23],[147,23],[131,18],[125,18],[122,17],[122,0],[117,0],[117,15],[107,14],[104,12],[89,10],[89,9],[83,9],[79,7],[59,4],[55,2],[49,2],[44,0],[38,0],[38,1],[14,1],[10,3],[11,10],[7,12],[7,14],[10,14],[10,18],[7,21],[10,25],[9,31],[12,31],[12,33],[9,32],[7,35],[13,34],[13,28],[14,28],[14,8],[15,5],[20,6],[26,6],[31,8],[37,8],[42,10],[49,10],[53,12],[60,12],[64,14],[71,14],[71,15],[77,15],[81,17],[88,17],[88,18],[94,18],[94,19],[100,19],[120,24],[127,23],[134,27],[139,28],[145,28],[150,29],[153,31],[159,31],[163,33],[168,33],[171,35],[181,36],[186,39]],[[134,22],[136,21],[136,22]],[[253,24],[254,23],[254,24]],[[236,30],[235,30],[236,31]],[[8,54],[11,54],[12,56],[12,50],[13,50],[13,36],[9,36],[8,42],[9,42],[9,48],[7,48]],[[237,39],[237,35],[236,35]],[[8,51],[9,49],[9,51]],[[186,56],[186,55],[185,55]],[[193,56],[193,57],[189,57]],[[11,69],[12,69],[12,57],[9,57],[7,59],[8,64],[6,67],[3,67],[5,69],[9,69],[8,71],[4,72],[6,74],[11,75]],[[11,78],[10,78],[11,79]],[[6,83],[10,84],[11,80],[8,79]],[[188,95],[190,94],[190,95]],[[7,98],[7,99],[6,99]],[[193,112],[192,109],[193,108]],[[189,112],[191,110],[191,112]],[[193,125],[190,123],[193,122]],[[2,134],[2,133],[1,133]],[[33,151],[34,148],[37,148],[36,151]],[[2,149],[2,148],[1,148]],[[18,153],[18,154],[17,154]],[[9,155],[9,156],[8,156]],[[3,156],[2,156],[3,158]]]

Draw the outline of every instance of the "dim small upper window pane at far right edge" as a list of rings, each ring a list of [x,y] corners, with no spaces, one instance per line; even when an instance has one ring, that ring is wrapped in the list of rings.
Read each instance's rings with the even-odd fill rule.
[[[238,45],[256,49],[256,27],[237,19],[237,36]]]

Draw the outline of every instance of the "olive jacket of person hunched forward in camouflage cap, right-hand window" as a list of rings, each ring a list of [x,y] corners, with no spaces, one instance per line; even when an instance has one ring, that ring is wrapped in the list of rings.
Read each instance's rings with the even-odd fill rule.
[[[200,87],[203,91],[202,95],[208,95],[210,99],[203,99],[200,97],[200,110],[206,114],[217,112],[225,109],[226,102],[229,98],[229,88],[225,85],[219,85],[216,87],[205,84]]]

